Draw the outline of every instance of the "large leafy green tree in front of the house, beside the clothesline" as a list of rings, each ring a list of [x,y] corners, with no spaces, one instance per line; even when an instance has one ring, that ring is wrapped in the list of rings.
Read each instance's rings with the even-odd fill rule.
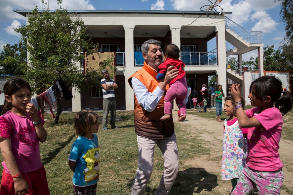
[[[99,71],[80,71],[79,62],[84,59],[83,51],[91,53],[94,46],[86,33],[82,19],[74,13],[68,13],[61,8],[62,0],[57,0],[60,8],[54,13],[47,3],[41,0],[45,9],[35,9],[28,17],[28,25],[15,29],[21,34],[21,42],[27,48],[29,60],[22,66],[24,77],[36,93],[41,93],[51,87],[60,78],[68,87],[76,87],[85,91],[89,87],[99,86],[101,75]],[[63,109],[63,95],[57,100],[55,124]]]

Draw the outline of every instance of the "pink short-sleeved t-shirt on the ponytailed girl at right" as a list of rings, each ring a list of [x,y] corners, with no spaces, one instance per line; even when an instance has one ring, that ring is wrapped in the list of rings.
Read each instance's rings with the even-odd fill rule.
[[[275,171],[283,167],[280,160],[279,141],[283,126],[283,116],[278,108],[267,108],[254,114],[259,107],[246,110],[248,118],[255,117],[261,126],[251,128],[247,134],[248,167],[259,171]]]

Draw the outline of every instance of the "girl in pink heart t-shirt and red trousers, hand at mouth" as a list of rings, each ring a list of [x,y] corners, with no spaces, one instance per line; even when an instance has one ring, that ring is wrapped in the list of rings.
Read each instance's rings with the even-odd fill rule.
[[[4,93],[0,194],[50,194],[39,144],[47,139],[47,132],[41,112],[30,103],[31,87],[22,78],[11,79],[4,85]]]

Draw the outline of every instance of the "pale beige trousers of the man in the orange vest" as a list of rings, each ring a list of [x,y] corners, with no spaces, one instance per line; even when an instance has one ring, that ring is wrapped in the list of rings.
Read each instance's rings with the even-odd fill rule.
[[[143,195],[153,172],[153,153],[155,144],[163,154],[165,170],[156,195],[169,194],[179,170],[178,147],[175,132],[163,140],[152,140],[137,136],[139,157],[138,169],[131,187],[131,195]]]

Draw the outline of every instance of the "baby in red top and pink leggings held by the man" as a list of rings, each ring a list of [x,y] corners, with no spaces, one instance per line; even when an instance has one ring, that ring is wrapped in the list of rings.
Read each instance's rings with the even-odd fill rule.
[[[163,49],[163,60],[164,62],[159,65],[160,72],[157,74],[157,80],[160,81],[166,74],[167,68],[169,66],[175,66],[179,70],[179,74],[176,78],[169,82],[170,88],[166,92],[164,98],[164,115],[161,117],[162,121],[169,119],[171,117],[172,110],[172,101],[176,98],[176,104],[180,111],[180,117],[178,121],[182,122],[186,118],[186,106],[184,100],[187,93],[187,81],[184,77],[185,71],[181,67],[184,67],[185,64],[179,60],[180,58],[180,49],[177,45],[169,43]],[[191,102],[190,102],[191,103]],[[190,105],[191,106],[191,105]],[[191,108],[191,107],[190,107]]]

